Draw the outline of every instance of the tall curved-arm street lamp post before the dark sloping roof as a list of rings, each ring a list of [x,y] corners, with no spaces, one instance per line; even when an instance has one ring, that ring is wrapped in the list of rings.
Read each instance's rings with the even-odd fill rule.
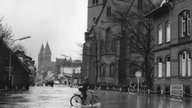
[[[15,41],[21,41],[21,40],[25,40],[25,39],[28,39],[28,38],[31,38],[31,36],[26,36],[26,37],[22,37],[22,38],[18,38],[18,39],[15,39],[15,40],[13,40],[12,42],[11,42],[11,44],[10,44],[10,47],[12,46],[12,44],[15,42]],[[12,87],[12,85],[13,85],[13,77],[12,77],[12,75],[11,75],[11,49],[9,50],[9,75],[8,75],[8,78],[9,78],[9,82],[8,82],[8,84],[9,84],[9,87],[11,88]]]

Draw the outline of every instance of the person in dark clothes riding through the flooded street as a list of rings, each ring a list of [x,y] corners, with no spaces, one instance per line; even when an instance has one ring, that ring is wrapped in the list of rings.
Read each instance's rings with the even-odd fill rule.
[[[82,104],[85,105],[85,100],[87,98],[87,90],[89,86],[88,78],[85,79],[85,81],[82,83],[82,86],[83,86],[82,88],[79,88],[79,91],[83,95]]]

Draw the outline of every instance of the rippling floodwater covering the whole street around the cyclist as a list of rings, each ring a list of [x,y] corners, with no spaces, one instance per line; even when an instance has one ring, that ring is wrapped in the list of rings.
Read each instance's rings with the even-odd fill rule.
[[[77,88],[66,86],[31,87],[29,91],[17,93],[1,91],[0,108],[73,108],[69,100],[76,92]],[[128,95],[108,91],[97,93],[101,105],[94,108],[192,108],[191,98],[180,102],[170,101],[169,97],[158,95]]]

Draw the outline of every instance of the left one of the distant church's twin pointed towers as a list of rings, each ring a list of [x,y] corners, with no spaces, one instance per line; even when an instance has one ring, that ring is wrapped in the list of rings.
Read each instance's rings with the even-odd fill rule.
[[[44,46],[42,44],[41,45],[41,49],[39,51],[39,55],[38,55],[38,70],[40,68],[42,68],[42,65],[43,65],[43,55],[44,55]]]

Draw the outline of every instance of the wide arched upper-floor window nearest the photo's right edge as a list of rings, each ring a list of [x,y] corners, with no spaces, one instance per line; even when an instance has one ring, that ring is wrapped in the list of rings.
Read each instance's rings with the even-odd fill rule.
[[[190,12],[185,10],[179,14],[179,36],[186,37],[190,35]]]

